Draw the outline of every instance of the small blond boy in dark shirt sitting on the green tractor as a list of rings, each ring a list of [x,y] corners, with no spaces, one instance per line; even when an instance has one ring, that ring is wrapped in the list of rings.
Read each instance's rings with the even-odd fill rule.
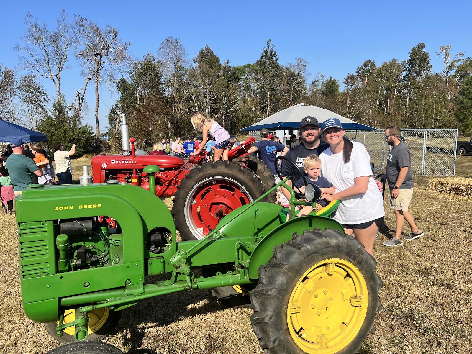
[[[304,161],[304,170],[305,173],[308,174],[306,177],[306,181],[312,185],[317,185],[321,189],[321,193],[326,194],[334,194],[335,190],[334,187],[329,181],[325,178],[320,176],[321,172],[321,160],[316,155],[308,155]],[[296,187],[300,190],[300,192],[305,193],[305,185],[303,182],[303,178],[301,177],[295,183]],[[301,206],[297,205],[297,209],[300,210],[297,216],[304,216],[310,214],[313,210],[320,210],[326,206],[326,201],[324,199],[318,199],[316,201],[316,206]]]

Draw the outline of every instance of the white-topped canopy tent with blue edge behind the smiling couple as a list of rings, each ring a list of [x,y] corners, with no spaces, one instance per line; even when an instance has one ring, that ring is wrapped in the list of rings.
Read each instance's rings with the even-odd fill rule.
[[[324,108],[312,106],[311,104],[299,103],[295,106],[274,113],[271,116],[262,119],[260,122],[253,124],[252,126],[247,126],[243,129],[239,129],[239,131],[261,130],[262,128],[274,130],[276,130],[275,128],[282,128],[277,130],[300,129],[300,121],[307,116],[315,117],[320,123],[321,127],[321,123],[323,123],[325,120],[337,118],[339,119],[345,130],[375,129],[371,126],[365,126],[363,124],[354,122],[354,120],[344,118],[343,116],[331,112],[330,110],[325,110]]]

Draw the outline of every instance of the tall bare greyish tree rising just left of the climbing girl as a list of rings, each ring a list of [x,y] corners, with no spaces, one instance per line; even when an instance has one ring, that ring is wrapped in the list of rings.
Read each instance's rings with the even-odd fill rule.
[[[179,38],[169,36],[160,43],[157,51],[161,63],[164,82],[169,96],[172,97],[172,110],[180,117],[182,105],[185,101],[184,75],[188,65],[187,52]]]

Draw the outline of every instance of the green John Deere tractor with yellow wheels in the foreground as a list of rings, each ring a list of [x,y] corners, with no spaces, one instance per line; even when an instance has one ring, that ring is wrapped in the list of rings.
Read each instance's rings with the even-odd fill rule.
[[[17,197],[23,307],[51,336],[96,346],[90,340],[106,337],[126,307],[198,289],[249,293],[265,353],[354,353],[373,333],[382,282],[362,244],[329,218],[339,202],[286,221],[282,206],[259,202],[271,189],[202,240],[177,242],[172,215],[153,192],[158,171],[145,168],[151,193],[101,183],[30,187]],[[307,185],[308,202],[299,201],[290,178],[279,185],[295,215],[295,205],[312,205],[320,190]],[[167,280],[146,282],[160,274]]]

